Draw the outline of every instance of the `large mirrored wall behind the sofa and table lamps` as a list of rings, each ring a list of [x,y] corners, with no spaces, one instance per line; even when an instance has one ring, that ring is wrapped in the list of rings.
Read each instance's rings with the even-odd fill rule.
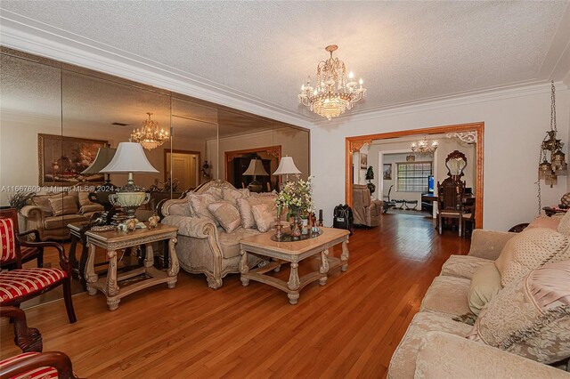
[[[279,146],[282,156],[294,157],[303,177],[309,174],[304,129],[24,52],[0,52],[0,206],[8,206],[18,191],[100,181],[101,175],[80,173],[98,147],[129,141],[148,113],[172,135],[144,150],[158,173],[137,173],[134,181],[164,192],[162,198],[177,198],[211,179],[231,181],[228,152]],[[246,160],[255,157],[246,154]],[[277,177],[268,174],[267,189],[276,188]],[[126,175],[112,174],[110,180],[121,186]]]

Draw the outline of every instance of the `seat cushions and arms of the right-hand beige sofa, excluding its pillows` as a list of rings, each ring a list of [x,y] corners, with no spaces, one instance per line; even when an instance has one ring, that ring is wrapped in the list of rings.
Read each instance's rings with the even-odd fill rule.
[[[516,235],[474,230],[468,255],[452,255],[444,263],[395,350],[389,378],[570,377],[562,369],[470,341],[466,335],[473,327],[453,320],[470,312],[468,291],[476,269],[494,262]]]

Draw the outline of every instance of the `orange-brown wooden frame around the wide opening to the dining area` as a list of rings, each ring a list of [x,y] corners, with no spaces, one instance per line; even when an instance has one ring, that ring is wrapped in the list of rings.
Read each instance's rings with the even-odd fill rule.
[[[345,199],[346,204],[353,206],[353,181],[354,181],[354,153],[359,152],[363,146],[370,146],[372,141],[390,140],[405,136],[419,135],[428,136],[442,133],[469,133],[476,144],[475,151],[475,228],[483,227],[483,140],[485,123],[472,123],[460,125],[444,125],[422,129],[411,129],[398,132],[368,134],[354,137],[346,137],[345,152]],[[377,171],[378,172],[378,171]]]

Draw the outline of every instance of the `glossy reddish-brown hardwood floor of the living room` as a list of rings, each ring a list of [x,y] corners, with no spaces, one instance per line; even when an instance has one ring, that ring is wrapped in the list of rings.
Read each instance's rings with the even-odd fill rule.
[[[215,291],[181,270],[175,289],[132,294],[114,312],[102,294],[77,294],[74,325],[62,301],[26,313],[44,351],[66,352],[80,377],[380,377],[444,261],[468,246],[427,218],[386,214],[354,232],[348,270],[306,286],[297,305],[237,274]],[[18,353],[12,326],[0,331],[1,358]]]

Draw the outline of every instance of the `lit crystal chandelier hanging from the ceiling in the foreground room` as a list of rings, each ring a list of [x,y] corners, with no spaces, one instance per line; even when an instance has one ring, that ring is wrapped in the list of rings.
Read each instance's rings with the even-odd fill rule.
[[[345,62],[332,58],[332,52],[337,49],[336,44],[325,48],[330,52],[330,58],[321,60],[317,65],[315,88],[311,86],[309,79],[306,85],[301,85],[301,93],[298,94],[299,104],[329,120],[342,115],[346,109],[353,108],[354,103],[361,100],[366,93],[366,89],[362,87],[362,78],[356,82],[352,71],[346,77]]]

